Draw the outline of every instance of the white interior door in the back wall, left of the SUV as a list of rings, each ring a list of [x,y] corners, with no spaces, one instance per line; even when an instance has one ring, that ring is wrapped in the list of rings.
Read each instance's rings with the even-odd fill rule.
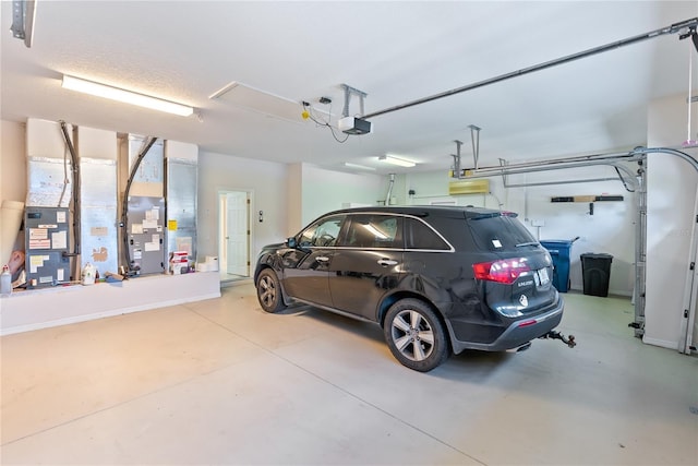
[[[250,196],[246,192],[226,194],[226,272],[250,276]]]

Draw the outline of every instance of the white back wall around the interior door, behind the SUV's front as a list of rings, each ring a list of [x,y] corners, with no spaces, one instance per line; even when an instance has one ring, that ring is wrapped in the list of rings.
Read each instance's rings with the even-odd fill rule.
[[[252,254],[284,241],[315,217],[344,203],[376,204],[386,179],[376,175],[330,171],[308,164],[278,164],[201,152],[198,158],[198,254],[218,255],[218,192],[251,191]]]

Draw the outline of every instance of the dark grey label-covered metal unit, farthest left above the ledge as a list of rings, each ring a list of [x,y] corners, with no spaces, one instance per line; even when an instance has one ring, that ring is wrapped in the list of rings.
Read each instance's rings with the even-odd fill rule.
[[[67,207],[32,207],[24,213],[27,288],[69,283],[70,212]]]

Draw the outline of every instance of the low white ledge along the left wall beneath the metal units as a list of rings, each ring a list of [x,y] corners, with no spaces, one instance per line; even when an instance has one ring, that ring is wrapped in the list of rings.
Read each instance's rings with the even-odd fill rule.
[[[218,272],[16,291],[0,298],[0,335],[220,297]]]

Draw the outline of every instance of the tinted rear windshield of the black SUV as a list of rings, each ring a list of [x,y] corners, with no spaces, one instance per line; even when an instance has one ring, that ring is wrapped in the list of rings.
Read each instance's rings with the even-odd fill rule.
[[[483,215],[468,219],[476,244],[488,251],[509,251],[538,244],[529,230],[514,216]]]

